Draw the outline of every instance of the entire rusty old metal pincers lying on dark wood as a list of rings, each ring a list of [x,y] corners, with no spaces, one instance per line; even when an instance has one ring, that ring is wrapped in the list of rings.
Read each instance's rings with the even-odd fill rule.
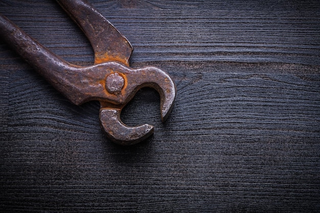
[[[95,52],[93,65],[66,62],[1,14],[0,36],[72,103],[98,100],[101,127],[109,139],[121,145],[144,140],[153,133],[153,126],[128,127],[120,120],[121,110],[140,88],[152,87],[160,94],[164,122],[176,96],[174,82],[156,67],[130,68],[130,42],[93,6],[80,0],[57,2],[88,37]]]

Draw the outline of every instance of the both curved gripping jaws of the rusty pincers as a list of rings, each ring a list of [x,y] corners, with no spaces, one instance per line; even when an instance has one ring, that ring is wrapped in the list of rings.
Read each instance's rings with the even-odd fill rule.
[[[127,86],[124,89],[127,96],[123,97],[127,103],[131,100],[140,88],[151,87],[158,91],[161,103],[162,122],[168,119],[173,108],[173,102],[176,96],[176,87],[169,75],[156,67],[145,67],[141,69],[132,69],[130,72],[123,72],[126,75]],[[153,126],[144,124],[141,126],[128,127],[120,119],[121,109],[108,103],[101,102],[100,124],[104,129],[106,136],[116,144],[123,146],[137,144],[148,138],[153,133]]]

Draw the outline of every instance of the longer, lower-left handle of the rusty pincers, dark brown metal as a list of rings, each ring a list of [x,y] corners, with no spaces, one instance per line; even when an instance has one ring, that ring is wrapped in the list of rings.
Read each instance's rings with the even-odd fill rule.
[[[0,38],[26,60],[45,80],[74,104],[91,98],[82,85],[81,67],[70,64],[45,48],[12,21],[0,14]],[[77,77],[78,76],[78,77]]]

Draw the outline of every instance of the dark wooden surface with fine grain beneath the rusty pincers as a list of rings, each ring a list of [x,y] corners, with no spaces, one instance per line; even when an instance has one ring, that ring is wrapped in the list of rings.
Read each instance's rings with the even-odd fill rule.
[[[142,89],[123,110],[152,124],[120,147],[99,104],[75,106],[0,41],[1,212],[319,212],[318,1],[90,0],[132,43],[132,67],[177,85],[168,121]],[[0,13],[69,62],[93,50],[54,1]]]

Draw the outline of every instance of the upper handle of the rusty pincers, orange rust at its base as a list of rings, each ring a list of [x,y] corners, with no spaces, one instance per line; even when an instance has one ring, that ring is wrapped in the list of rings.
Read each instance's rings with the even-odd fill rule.
[[[95,64],[119,61],[129,66],[133,51],[130,42],[84,0],[57,0],[68,15],[79,25],[95,51]]]

